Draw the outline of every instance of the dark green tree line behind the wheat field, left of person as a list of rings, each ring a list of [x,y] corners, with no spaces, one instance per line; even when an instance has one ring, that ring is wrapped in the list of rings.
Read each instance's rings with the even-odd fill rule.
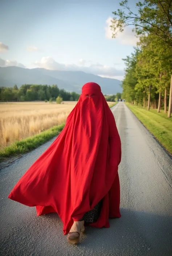
[[[79,94],[66,92],[57,85],[17,85],[13,88],[0,87],[0,101],[56,101],[57,97],[64,101],[78,101]]]

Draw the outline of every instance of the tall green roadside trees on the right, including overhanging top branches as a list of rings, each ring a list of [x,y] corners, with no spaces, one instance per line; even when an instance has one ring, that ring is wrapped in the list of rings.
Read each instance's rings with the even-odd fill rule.
[[[123,95],[128,102],[157,108],[171,117],[172,109],[172,0],[144,0],[138,2],[137,13],[120,3],[122,9],[114,13],[113,36],[132,25],[139,37],[138,47],[124,59],[126,75]]]

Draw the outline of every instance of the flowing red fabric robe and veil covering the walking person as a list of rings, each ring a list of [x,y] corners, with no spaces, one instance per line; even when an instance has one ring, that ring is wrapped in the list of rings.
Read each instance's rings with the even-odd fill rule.
[[[37,215],[57,212],[64,234],[103,199],[95,227],[120,217],[118,165],[121,143],[114,116],[98,84],[87,83],[66,125],[32,164],[9,198],[36,206]]]

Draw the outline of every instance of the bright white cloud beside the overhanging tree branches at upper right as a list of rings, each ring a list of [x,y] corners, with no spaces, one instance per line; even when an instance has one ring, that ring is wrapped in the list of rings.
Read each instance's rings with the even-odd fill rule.
[[[112,18],[108,18],[106,20],[106,27],[105,27],[105,36],[108,39],[112,39],[112,30],[110,28]],[[136,33],[132,32],[131,27],[125,27],[123,32],[117,32],[115,37],[121,44],[123,45],[132,45],[136,46],[139,38],[136,37]]]

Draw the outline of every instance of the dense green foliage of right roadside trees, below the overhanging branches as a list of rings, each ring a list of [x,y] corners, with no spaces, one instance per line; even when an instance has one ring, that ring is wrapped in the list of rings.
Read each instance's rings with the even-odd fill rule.
[[[169,99],[172,52],[163,40],[153,34],[140,37],[138,45],[139,48],[124,59],[126,74],[122,84],[123,98],[143,106],[150,93],[152,106],[157,107],[158,99],[159,106],[162,106],[165,89],[167,99],[164,100],[167,102]]]

